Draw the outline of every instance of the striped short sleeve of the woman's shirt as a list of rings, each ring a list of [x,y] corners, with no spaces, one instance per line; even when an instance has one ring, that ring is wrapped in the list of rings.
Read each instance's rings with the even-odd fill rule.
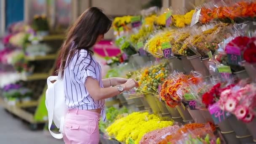
[[[71,68],[71,70],[73,70],[78,80],[85,83],[87,77],[97,80],[95,66],[96,61],[93,60],[93,57],[86,51],[81,51],[80,53],[77,53],[74,60],[72,60],[71,67],[73,69]]]

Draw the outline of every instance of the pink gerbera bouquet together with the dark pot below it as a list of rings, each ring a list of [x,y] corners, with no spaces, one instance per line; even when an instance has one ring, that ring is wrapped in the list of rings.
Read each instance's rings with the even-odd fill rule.
[[[223,88],[218,104],[222,110],[233,114],[228,120],[237,138],[242,143],[252,142],[251,134],[255,138],[255,129],[251,127],[247,129],[244,123],[252,123],[256,115],[255,84],[246,84],[241,81],[237,85],[233,85],[233,87]],[[241,131],[241,128],[243,131]]]

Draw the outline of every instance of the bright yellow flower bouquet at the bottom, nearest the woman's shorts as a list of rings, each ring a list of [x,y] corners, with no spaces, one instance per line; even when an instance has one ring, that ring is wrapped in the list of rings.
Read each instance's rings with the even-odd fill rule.
[[[139,144],[141,138],[148,132],[173,125],[172,121],[163,121],[156,115],[144,112],[133,112],[130,115],[116,120],[107,128],[109,136],[128,144],[131,138]]]

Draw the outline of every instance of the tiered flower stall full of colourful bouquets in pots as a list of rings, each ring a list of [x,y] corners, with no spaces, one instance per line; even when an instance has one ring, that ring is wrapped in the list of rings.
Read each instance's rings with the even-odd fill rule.
[[[149,8],[115,18],[123,54],[106,77],[140,86],[108,108],[101,143],[255,143],[255,8],[211,1],[187,13]]]

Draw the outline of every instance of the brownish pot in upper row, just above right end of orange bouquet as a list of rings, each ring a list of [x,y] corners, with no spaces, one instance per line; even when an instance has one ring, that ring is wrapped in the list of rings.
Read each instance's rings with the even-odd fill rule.
[[[200,72],[204,77],[210,75],[209,70],[205,67],[205,64],[203,64],[200,56],[189,56],[187,59],[191,62],[195,71]]]

